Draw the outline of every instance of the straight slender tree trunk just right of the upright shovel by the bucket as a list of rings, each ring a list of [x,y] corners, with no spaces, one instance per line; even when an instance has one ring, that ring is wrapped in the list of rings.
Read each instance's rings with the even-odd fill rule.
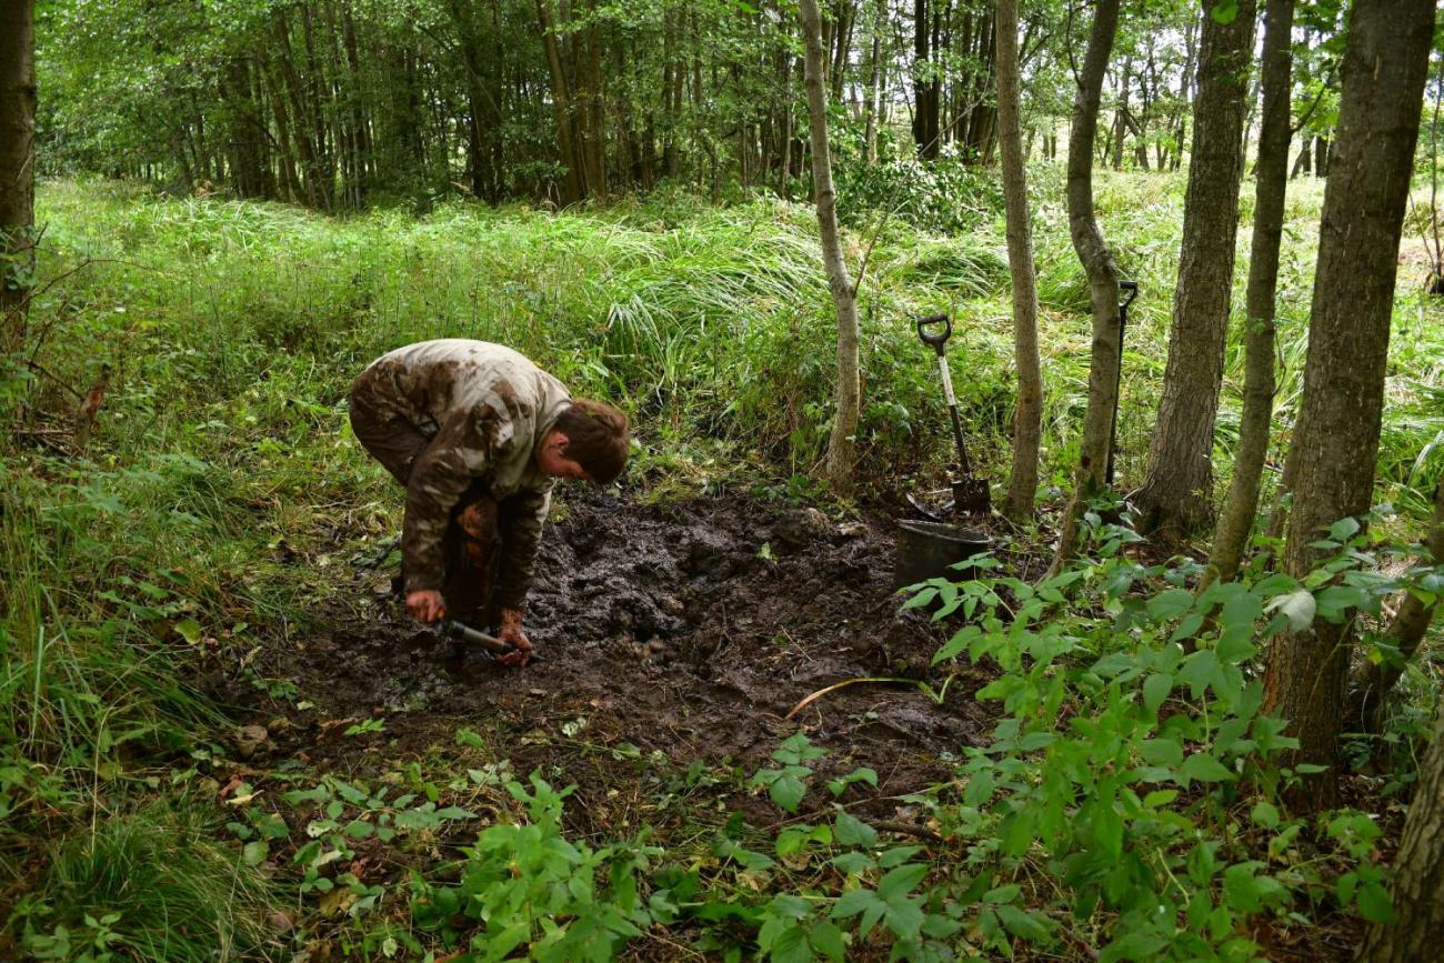
[[[1028,222],[1028,179],[1018,126],[1018,0],[998,0],[998,143],[1008,217],[1012,271],[1012,349],[1018,365],[1018,407],[1012,419],[1012,478],[1005,511],[1014,521],[1032,515],[1043,437],[1043,374],[1038,364],[1038,290]]]

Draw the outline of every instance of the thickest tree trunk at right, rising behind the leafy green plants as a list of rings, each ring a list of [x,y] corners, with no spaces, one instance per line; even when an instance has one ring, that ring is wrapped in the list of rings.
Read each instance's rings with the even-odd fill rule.
[[[1284,567],[1295,578],[1320,560],[1310,543],[1323,527],[1370,507],[1399,232],[1432,29],[1432,0],[1373,0],[1350,10],[1339,166],[1324,191],[1304,397],[1289,452],[1294,505]],[[1289,720],[1298,761],[1330,767],[1292,794],[1301,810],[1339,800],[1347,673],[1343,625],[1315,619],[1269,651],[1265,709]]]

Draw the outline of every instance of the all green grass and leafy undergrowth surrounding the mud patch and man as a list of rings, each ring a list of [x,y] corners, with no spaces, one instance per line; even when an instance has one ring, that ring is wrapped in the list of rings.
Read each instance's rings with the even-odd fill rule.
[[[1035,183],[1061,183],[1043,173]],[[933,310],[954,318],[952,365],[982,466],[1006,475],[1001,214],[986,192],[949,209],[939,192],[953,186],[921,185],[927,196],[900,205],[884,204],[894,182],[859,183],[846,211],[849,257],[866,264],[859,442],[872,491],[928,487],[949,458],[911,325]],[[1321,193],[1302,183],[1288,215],[1281,430],[1300,400]],[[1142,292],[1123,360],[1126,481],[1142,468],[1167,360],[1183,180],[1108,175],[1099,205]],[[1086,404],[1087,290],[1058,191],[1038,189],[1034,209],[1051,498]],[[657,195],[596,212],[451,205],[331,219],[52,182],[38,221],[45,287],[26,354],[0,371],[0,950],[289,959],[306,920],[339,918],[344,949],[364,959],[461,947],[504,959],[523,944],[537,959],[608,959],[657,938],[775,960],[1242,960],[1313,921],[1347,930],[1388,915],[1375,846],[1389,826],[1362,810],[1289,817],[1278,801],[1295,775],[1279,762],[1289,741],[1259,713],[1255,677],[1259,647],[1305,609],[1378,611],[1408,580],[1440,591],[1349,530],[1334,533],[1341,582],[1328,586],[1258,569],[1194,596],[1191,563],[1141,560],[1136,536],[1106,514],[1093,518],[1093,557],[1047,583],[983,560],[980,578],[924,588],[915,603],[966,616],[937,664],[998,673],[980,696],[1004,722],[991,745],[959,746],[953,783],[910,800],[914,840],[848,811],[866,772],[814,781],[820,749],[804,735],[762,772],[634,759],[669,798],[709,783],[767,793],[786,823],[771,830],[697,816],[670,837],[572,839],[566,787],[510,772],[504,748],[475,733],[458,733],[456,758],[433,770],[399,770],[399,787],[300,771],[263,791],[221,787],[227,749],[209,733],[227,706],[201,677],[224,666],[253,692],[300,696],[253,671],[254,653],[344,609],[342,560],[394,527],[387,479],[345,427],[347,388],[368,361],[433,336],[505,342],[630,410],[628,484],[806,495],[835,364],[813,214]],[[1444,323],[1408,277],[1396,308],[1378,474],[1378,501],[1396,514],[1370,531],[1402,539],[1444,466]],[[1242,362],[1230,342],[1225,474]],[[79,396],[103,378],[95,426],[78,432]],[[1411,778],[1437,668],[1424,661],[1408,687],[1385,736],[1385,809]],[[1379,752],[1354,755],[1365,765]],[[803,798],[823,798],[822,816],[790,816]],[[439,837],[484,811],[492,824],[440,858]],[[349,869],[371,858],[362,843],[435,871],[381,892]]]

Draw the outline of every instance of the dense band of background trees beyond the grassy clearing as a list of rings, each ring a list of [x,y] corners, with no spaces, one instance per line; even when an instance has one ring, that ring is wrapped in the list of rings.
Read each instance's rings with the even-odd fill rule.
[[[894,202],[914,159],[995,163],[993,4],[826,7],[833,149],[865,180],[861,201]],[[605,202],[658,185],[807,195],[790,3],[97,0],[42,3],[39,16],[53,40],[39,58],[38,156],[52,173],[328,211],[456,195]],[[1337,3],[1298,14],[1295,173],[1327,170],[1340,16]],[[1021,25],[1025,146],[1056,157],[1087,17],[1025,3]],[[1200,26],[1193,3],[1131,4],[1097,143],[1112,167],[1178,169]]]

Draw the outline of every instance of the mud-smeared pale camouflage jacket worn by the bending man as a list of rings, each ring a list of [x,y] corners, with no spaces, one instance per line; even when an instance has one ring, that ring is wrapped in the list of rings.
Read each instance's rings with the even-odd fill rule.
[[[432,439],[406,484],[406,589],[442,588],[451,510],[479,479],[500,508],[497,602],[523,608],[556,484],[534,453],[570,404],[566,387],[511,348],[449,338],[383,355],[357,391],[383,417],[400,416]]]

